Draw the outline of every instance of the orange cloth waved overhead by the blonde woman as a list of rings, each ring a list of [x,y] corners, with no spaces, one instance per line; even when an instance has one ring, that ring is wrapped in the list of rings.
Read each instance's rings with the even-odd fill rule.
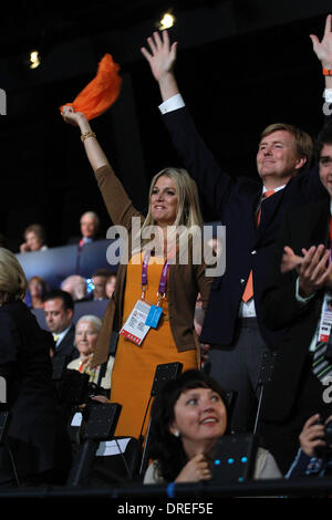
[[[72,103],[60,107],[72,106],[75,112],[82,112],[90,121],[106,112],[118,97],[122,79],[120,66],[114,63],[111,54],[105,54],[100,61],[96,76],[83,89]]]

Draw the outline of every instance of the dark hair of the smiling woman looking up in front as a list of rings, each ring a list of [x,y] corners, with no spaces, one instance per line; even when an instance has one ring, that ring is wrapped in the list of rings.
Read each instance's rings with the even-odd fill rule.
[[[149,430],[149,456],[156,459],[159,476],[167,482],[175,480],[187,464],[187,456],[179,437],[175,437],[169,427],[175,419],[174,407],[183,392],[191,388],[211,388],[220,395],[228,415],[226,392],[219,384],[198,370],[189,370],[176,379],[167,382],[152,406]]]

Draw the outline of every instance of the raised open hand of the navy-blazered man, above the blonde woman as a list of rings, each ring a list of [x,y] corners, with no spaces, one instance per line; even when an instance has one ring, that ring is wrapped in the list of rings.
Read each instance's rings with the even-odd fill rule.
[[[149,51],[144,46],[142,54],[149,63],[153,76],[159,84],[163,101],[179,94],[179,90],[174,75],[174,64],[176,61],[177,42],[169,43],[167,31],[158,33],[155,31],[147,39]]]

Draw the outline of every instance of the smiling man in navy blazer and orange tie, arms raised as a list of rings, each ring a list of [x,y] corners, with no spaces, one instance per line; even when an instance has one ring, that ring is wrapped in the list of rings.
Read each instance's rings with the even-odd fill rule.
[[[314,35],[311,39],[323,69],[332,69],[331,15],[322,41]],[[276,349],[283,335],[283,331],[264,325],[260,303],[277,232],[289,208],[324,198],[326,193],[318,167],[305,170],[312,150],[310,137],[291,125],[271,125],[262,133],[258,181],[232,179],[220,169],[179,94],[173,72],[177,44],[170,45],[166,31],[162,35],[155,32],[147,42],[149,50],[143,48],[142,52],[160,89],[164,123],[199,193],[226,226],[226,271],[214,280],[200,341],[210,344],[210,375],[238,394],[232,429],[250,429],[262,355],[268,347]],[[329,75],[325,87],[328,94],[332,89]],[[263,194],[271,190],[273,195],[263,200]],[[251,280],[255,297],[245,302]]]

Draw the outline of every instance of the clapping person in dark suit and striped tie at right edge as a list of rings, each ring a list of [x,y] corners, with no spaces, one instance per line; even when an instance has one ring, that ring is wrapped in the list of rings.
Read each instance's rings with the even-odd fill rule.
[[[332,40],[331,40],[332,43]],[[332,59],[332,55],[331,55]],[[260,433],[280,467],[288,469],[308,417],[332,413],[323,398],[332,376],[328,342],[331,333],[331,175],[332,123],[315,143],[320,179],[326,199],[286,215],[262,294],[266,325],[282,331],[271,383],[262,402]],[[286,446],[280,438],[287,438]]]

